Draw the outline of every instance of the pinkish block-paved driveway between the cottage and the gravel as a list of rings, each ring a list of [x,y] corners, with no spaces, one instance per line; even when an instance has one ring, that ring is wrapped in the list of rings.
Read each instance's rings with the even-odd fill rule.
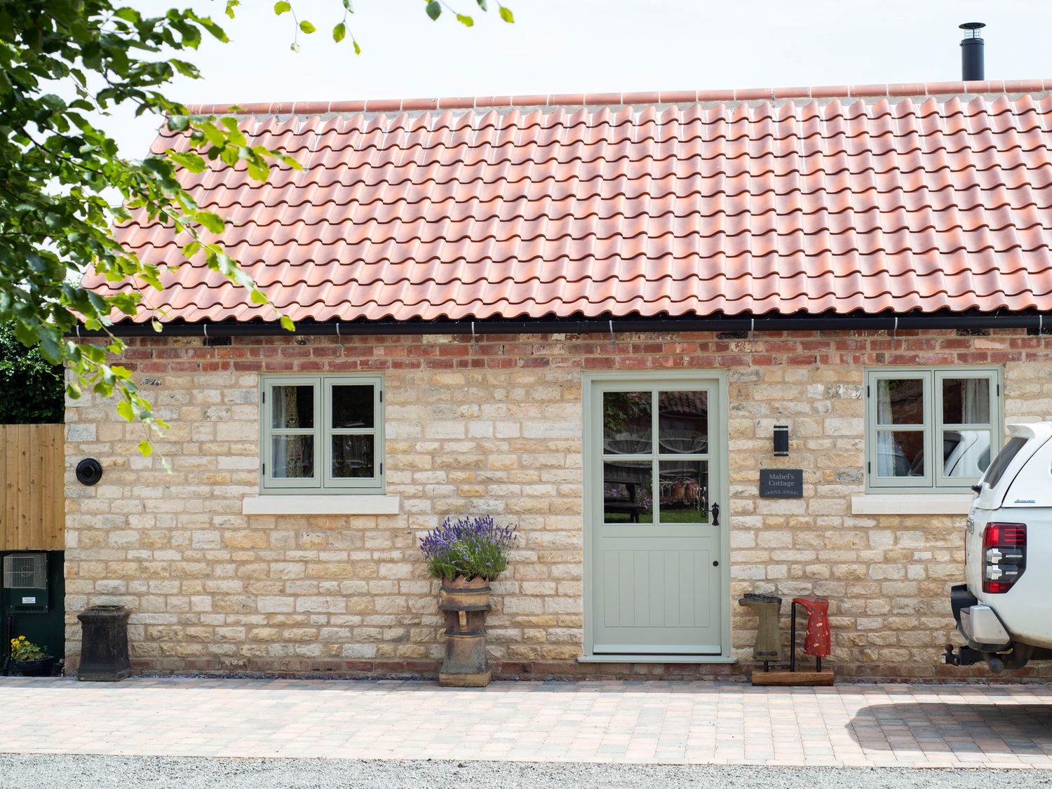
[[[1052,768],[1052,685],[0,677],[0,752]]]

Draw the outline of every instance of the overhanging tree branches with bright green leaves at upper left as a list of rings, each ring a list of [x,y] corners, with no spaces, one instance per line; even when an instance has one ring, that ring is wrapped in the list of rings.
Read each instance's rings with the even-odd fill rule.
[[[353,5],[350,0],[342,5],[343,21],[332,37],[349,38],[360,53],[346,24]],[[234,18],[239,6],[240,0],[226,0],[221,7]],[[272,7],[275,14],[291,16],[291,47],[299,50],[299,34],[312,34],[315,25],[298,19],[291,2]],[[430,3],[427,11],[431,15]],[[502,19],[511,21],[504,12],[502,6]],[[468,24],[469,18],[458,18]],[[144,294],[161,289],[160,271],[121,247],[110,228],[129,220],[133,210],[167,224],[188,239],[186,259],[246,288],[254,303],[267,304],[221,243],[205,238],[221,236],[226,221],[198,206],[177,171],[244,163],[252,179],[264,181],[276,163],[300,167],[282,151],[249,146],[236,119],[190,116],[165,96],[177,75],[200,79],[184,54],[205,39],[225,42],[227,37],[211,18],[191,8],[148,16],[112,0],[0,0],[0,323],[13,325],[18,342],[38,348],[48,364],[67,366],[69,397],[85,390],[117,397],[120,413],[144,426],[144,451],[164,424],[130,372],[110,362],[124,344],[109,327],[149,301],[161,301],[144,300]],[[166,119],[169,129],[189,138],[191,149],[142,160],[121,156],[92,118],[128,105],[137,115],[157,116],[159,123]],[[102,296],[79,286],[88,271],[113,283],[136,284]],[[277,310],[274,318],[295,328]],[[159,319],[163,315],[154,318],[157,330]],[[101,331],[102,341],[70,339],[78,323]]]

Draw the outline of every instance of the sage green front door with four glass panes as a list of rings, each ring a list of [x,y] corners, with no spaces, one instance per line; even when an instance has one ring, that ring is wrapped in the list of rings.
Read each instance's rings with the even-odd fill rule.
[[[592,652],[720,654],[719,382],[595,381],[590,399]]]

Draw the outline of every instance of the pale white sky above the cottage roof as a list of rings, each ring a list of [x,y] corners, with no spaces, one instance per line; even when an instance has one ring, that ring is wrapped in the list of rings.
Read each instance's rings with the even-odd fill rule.
[[[962,32],[987,23],[988,79],[1052,79],[1052,3],[1038,0],[509,0],[514,24],[474,0],[468,29],[421,0],[355,0],[349,27],[362,45],[332,41],[341,0],[291,0],[318,32],[289,49],[289,15],[268,0],[191,2],[231,38],[207,37],[185,59],[204,73],[169,94],[185,103],[421,98],[681,88],[926,82],[960,78]],[[186,4],[128,0],[143,12]],[[490,0],[491,8],[495,2]],[[106,123],[121,150],[145,153],[156,122]]]

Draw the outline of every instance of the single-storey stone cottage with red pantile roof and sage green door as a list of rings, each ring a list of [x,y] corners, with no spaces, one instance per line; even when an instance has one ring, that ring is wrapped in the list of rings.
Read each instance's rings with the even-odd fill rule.
[[[118,230],[171,470],[68,403],[72,670],[121,603],[142,671],[433,675],[419,534],[490,513],[497,676],[742,672],[747,591],[828,596],[842,675],[948,673],[969,488],[1052,417],[1043,82],[236,112],[303,170],[183,178],[297,331]]]

